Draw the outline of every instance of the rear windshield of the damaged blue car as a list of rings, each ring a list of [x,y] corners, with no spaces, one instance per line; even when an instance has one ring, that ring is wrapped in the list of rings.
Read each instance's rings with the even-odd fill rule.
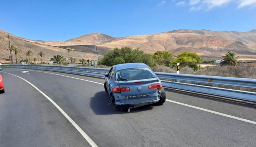
[[[116,72],[117,81],[130,81],[154,78],[148,67],[121,69]]]

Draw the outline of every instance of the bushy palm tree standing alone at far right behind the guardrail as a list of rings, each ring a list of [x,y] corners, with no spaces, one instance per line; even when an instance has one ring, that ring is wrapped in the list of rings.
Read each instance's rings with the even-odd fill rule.
[[[223,65],[230,65],[230,66],[237,66],[239,61],[237,60],[236,53],[234,51],[229,51],[225,56],[222,57],[221,66]]]

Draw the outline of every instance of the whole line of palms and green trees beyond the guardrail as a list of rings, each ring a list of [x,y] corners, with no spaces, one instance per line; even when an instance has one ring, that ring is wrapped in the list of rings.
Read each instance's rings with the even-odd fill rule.
[[[21,52],[21,49],[19,49],[14,44],[11,44],[11,51],[15,53],[15,59],[17,64],[17,54]],[[70,55],[71,49],[68,49],[68,54]],[[26,58],[20,57],[19,61],[26,62],[26,64],[32,64],[33,62],[30,61],[31,55],[34,54],[32,50],[27,50],[25,52]],[[43,51],[38,52],[40,56],[40,63],[42,63],[42,56],[45,55]],[[228,52],[225,54],[225,56],[222,57],[221,60],[221,66],[223,65],[231,65],[231,66],[237,66],[239,64],[237,60],[236,53],[233,51]],[[34,63],[36,62],[37,58],[33,58]],[[62,55],[53,55],[51,58],[55,63],[58,64],[67,64],[66,58]],[[70,57],[69,60],[71,60],[71,63],[76,63],[77,58]],[[90,65],[90,60],[86,60],[84,58],[79,59],[79,62],[85,65]],[[132,49],[130,47],[122,47],[122,48],[114,48],[113,50],[109,51],[104,55],[103,58],[99,60],[99,64],[106,65],[106,66],[113,66],[116,64],[122,64],[122,63],[134,63],[134,62],[142,62],[147,64],[149,67],[153,67],[155,65],[165,65],[168,67],[176,67],[177,63],[180,63],[181,67],[189,66],[193,70],[198,70],[200,68],[200,63],[206,63],[207,61],[203,61],[203,58],[201,58],[197,53],[195,52],[183,52],[176,57],[173,56],[173,54],[169,51],[156,51],[153,55],[144,53],[141,49]],[[213,63],[214,60],[210,61],[210,63]],[[209,61],[208,61],[209,63]]]

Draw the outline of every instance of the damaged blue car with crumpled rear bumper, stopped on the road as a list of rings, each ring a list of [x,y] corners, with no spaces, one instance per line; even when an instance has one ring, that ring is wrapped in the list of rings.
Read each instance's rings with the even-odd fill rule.
[[[104,88],[114,110],[129,107],[129,112],[131,108],[165,102],[161,81],[144,63],[114,65],[105,77]]]

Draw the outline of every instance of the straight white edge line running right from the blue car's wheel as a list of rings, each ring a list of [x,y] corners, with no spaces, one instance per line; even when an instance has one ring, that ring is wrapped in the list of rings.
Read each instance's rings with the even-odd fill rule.
[[[187,106],[187,107],[191,107],[191,108],[195,108],[195,109],[199,109],[199,110],[203,110],[203,111],[206,111],[206,112],[218,114],[218,115],[221,115],[221,116],[226,116],[226,117],[229,117],[229,118],[233,118],[233,119],[236,119],[236,120],[240,120],[240,121],[243,121],[243,122],[247,122],[247,123],[251,123],[251,124],[256,125],[256,122],[250,121],[250,120],[247,120],[247,119],[235,117],[235,116],[232,116],[232,115],[228,115],[228,114],[224,114],[224,113],[220,113],[220,112],[216,112],[216,111],[212,111],[212,110],[208,110],[208,109],[204,109],[204,108],[200,108],[200,107],[196,107],[196,106],[192,106],[192,105],[183,104],[183,103],[172,101],[172,100],[167,100],[166,99],[166,101],[172,102],[172,103],[175,103],[175,104],[179,104],[179,105],[183,105],[183,106]]]

